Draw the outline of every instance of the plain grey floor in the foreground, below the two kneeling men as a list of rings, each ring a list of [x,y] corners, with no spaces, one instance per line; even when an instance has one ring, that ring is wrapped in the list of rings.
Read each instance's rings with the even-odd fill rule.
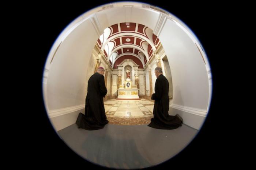
[[[106,124],[88,131],[76,124],[58,131],[60,137],[87,161],[117,169],[139,169],[164,162],[189,144],[198,130],[185,124],[174,130],[144,125]]]

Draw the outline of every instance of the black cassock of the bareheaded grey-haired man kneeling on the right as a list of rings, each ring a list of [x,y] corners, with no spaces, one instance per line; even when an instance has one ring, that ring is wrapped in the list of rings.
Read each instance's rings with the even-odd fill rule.
[[[169,82],[162,74],[155,82],[155,93],[151,96],[154,103],[154,118],[148,126],[156,129],[176,129],[181,126],[183,120],[179,115],[171,116],[169,111]]]

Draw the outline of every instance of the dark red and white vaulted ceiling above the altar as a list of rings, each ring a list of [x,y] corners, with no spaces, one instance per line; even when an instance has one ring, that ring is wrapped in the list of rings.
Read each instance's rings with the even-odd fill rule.
[[[111,25],[97,40],[112,68],[117,68],[124,59],[132,59],[139,68],[144,68],[159,44],[153,30],[138,23]]]

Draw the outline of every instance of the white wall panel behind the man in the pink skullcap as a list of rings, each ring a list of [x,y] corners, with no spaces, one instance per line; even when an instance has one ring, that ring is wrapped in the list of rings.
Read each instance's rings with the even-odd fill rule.
[[[90,39],[90,41],[88,41]],[[90,20],[84,21],[61,43],[47,80],[49,110],[84,103],[89,59],[98,39]]]

